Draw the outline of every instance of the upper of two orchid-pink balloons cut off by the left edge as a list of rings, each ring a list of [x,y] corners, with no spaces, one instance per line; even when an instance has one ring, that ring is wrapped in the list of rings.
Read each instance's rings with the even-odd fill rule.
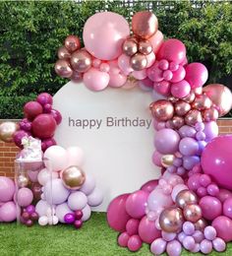
[[[0,176],[0,202],[8,202],[13,199],[15,183],[8,177]]]

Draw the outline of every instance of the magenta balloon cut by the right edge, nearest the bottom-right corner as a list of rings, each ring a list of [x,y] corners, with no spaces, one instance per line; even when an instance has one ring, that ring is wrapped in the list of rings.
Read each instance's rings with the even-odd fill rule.
[[[225,242],[232,241],[232,221],[226,216],[219,216],[211,224],[216,229],[217,237]]]

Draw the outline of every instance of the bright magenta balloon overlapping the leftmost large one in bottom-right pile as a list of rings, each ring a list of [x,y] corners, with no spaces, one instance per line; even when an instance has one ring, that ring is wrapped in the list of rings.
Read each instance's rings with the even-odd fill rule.
[[[126,211],[132,218],[140,219],[145,216],[147,197],[148,193],[143,190],[138,190],[128,197]]]

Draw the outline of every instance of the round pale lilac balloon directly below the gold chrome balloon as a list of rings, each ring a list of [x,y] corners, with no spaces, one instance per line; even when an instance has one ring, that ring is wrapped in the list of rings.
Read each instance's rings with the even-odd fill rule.
[[[71,193],[68,198],[68,206],[73,211],[83,210],[87,206],[87,196],[81,191]]]

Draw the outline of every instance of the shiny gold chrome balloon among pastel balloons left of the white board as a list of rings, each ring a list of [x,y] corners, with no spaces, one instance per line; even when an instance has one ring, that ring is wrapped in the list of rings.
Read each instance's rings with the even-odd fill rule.
[[[61,171],[61,179],[65,187],[75,190],[84,184],[86,174],[79,166],[72,165]]]

